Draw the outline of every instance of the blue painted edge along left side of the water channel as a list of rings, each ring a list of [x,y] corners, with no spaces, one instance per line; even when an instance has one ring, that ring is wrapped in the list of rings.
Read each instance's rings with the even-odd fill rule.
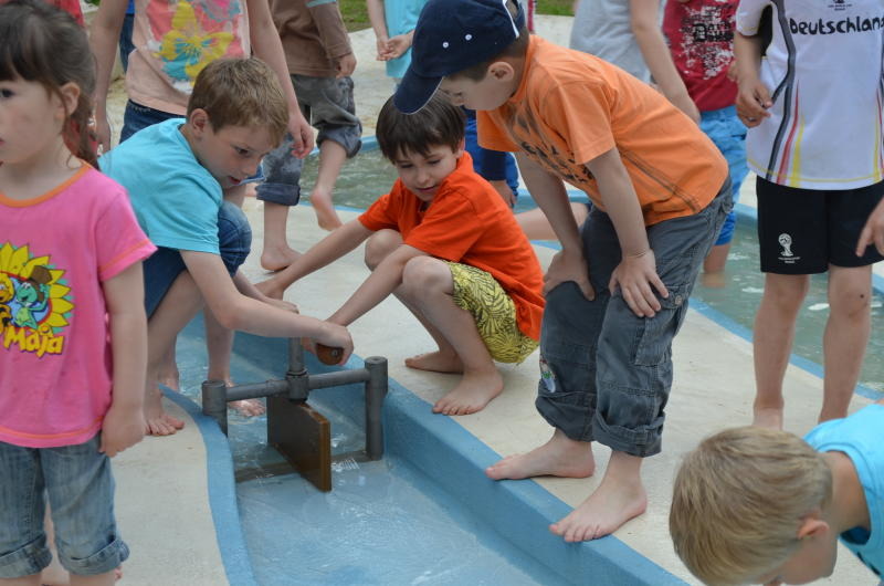
[[[209,485],[209,509],[212,512],[215,541],[228,582],[235,586],[257,586],[249,548],[242,535],[240,511],[236,506],[236,483],[233,458],[228,438],[214,419],[202,415],[200,407],[180,393],[164,388],[166,398],[181,407],[197,423],[206,446],[206,468]]]

